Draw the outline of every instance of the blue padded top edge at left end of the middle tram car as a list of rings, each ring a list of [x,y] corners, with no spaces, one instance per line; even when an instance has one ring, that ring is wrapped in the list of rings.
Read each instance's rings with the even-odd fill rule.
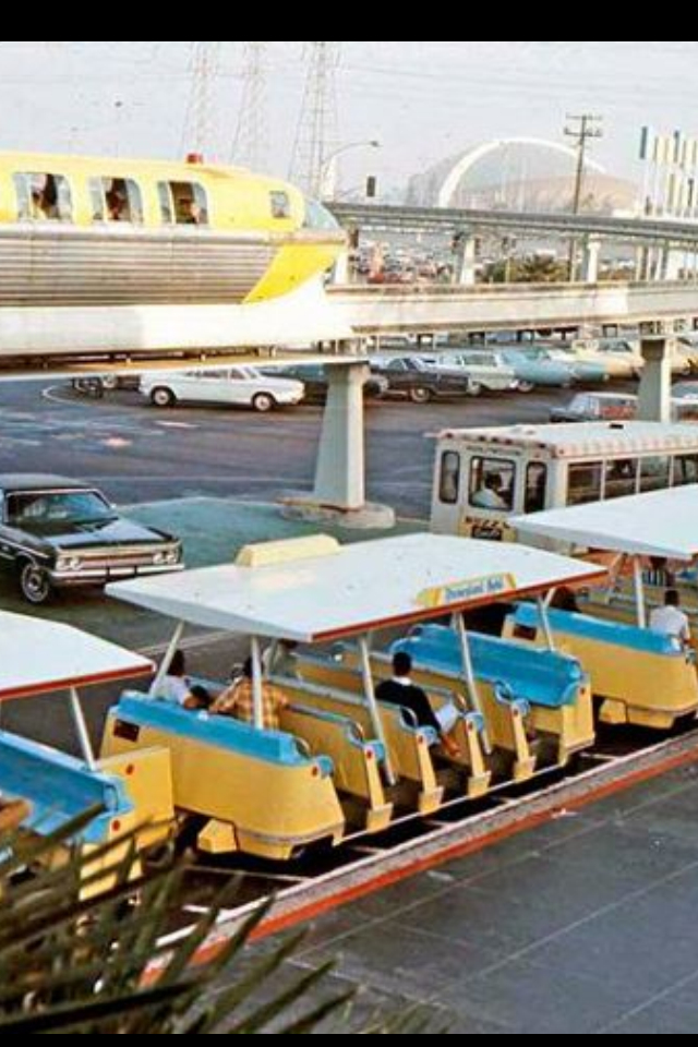
[[[170,702],[146,695],[125,694],[112,715],[115,731],[147,729],[164,735],[177,735],[202,745],[226,749],[266,763],[282,767],[304,767],[315,763],[323,778],[333,773],[332,760],[325,756],[310,758],[297,738],[281,731],[257,731],[248,723],[230,717],[213,717],[208,712],[192,712]],[[137,742],[137,736],[130,738]]]

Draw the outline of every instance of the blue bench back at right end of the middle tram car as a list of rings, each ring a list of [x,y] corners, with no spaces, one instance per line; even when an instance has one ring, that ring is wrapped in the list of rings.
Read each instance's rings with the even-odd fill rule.
[[[535,610],[535,609],[533,609]],[[579,662],[568,654],[541,651],[524,643],[470,634],[476,676],[483,683],[503,684],[519,701],[547,709],[573,706],[587,677]],[[418,667],[460,674],[460,640],[452,629],[429,625],[392,648],[410,654]]]

